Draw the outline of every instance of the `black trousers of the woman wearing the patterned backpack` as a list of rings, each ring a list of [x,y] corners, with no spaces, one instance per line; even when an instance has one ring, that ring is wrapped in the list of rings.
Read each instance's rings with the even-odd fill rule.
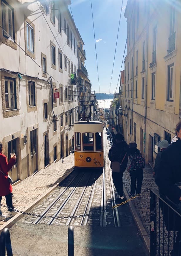
[[[130,171],[131,176],[131,194],[140,194],[141,193],[141,186],[143,182],[143,169],[136,169]],[[137,183],[137,186],[136,186]]]

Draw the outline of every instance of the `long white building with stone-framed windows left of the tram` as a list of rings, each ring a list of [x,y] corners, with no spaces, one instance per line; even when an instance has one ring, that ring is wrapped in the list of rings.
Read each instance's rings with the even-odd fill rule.
[[[16,152],[10,171],[14,181],[72,150],[73,123],[81,111],[77,87],[81,36],[69,4],[68,0],[0,4],[0,140],[8,159]]]

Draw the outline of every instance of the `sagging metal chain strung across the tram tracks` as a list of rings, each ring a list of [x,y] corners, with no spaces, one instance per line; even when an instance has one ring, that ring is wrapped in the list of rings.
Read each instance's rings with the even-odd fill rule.
[[[145,192],[148,192],[148,190],[150,189],[145,189],[143,192],[141,192],[140,194],[137,194],[135,195],[134,197],[130,197],[130,199],[118,204],[118,205],[115,205],[115,206],[112,206],[112,207],[109,207],[105,210],[102,210],[102,211],[95,211],[93,213],[88,213],[88,214],[84,214],[84,215],[74,215],[74,216],[46,216],[46,215],[39,215],[39,214],[33,214],[33,213],[30,213],[30,212],[24,212],[24,211],[20,211],[20,210],[17,210],[17,209],[12,209],[6,205],[3,205],[3,204],[0,204],[2,207],[5,207],[7,209],[10,209],[10,210],[14,210],[15,212],[20,212],[20,213],[23,213],[23,214],[26,214],[26,215],[30,215],[30,216],[35,216],[35,217],[42,217],[42,218],[49,218],[49,219],[71,219],[71,218],[81,218],[81,217],[86,217],[86,216],[91,216],[91,215],[95,215],[95,214],[100,214],[101,212],[106,212],[108,210],[111,210],[111,209],[114,209],[116,207],[120,207],[121,205],[125,205],[126,203],[128,203],[129,201],[132,201],[133,199],[135,199],[136,197],[140,196],[141,194],[144,194]]]

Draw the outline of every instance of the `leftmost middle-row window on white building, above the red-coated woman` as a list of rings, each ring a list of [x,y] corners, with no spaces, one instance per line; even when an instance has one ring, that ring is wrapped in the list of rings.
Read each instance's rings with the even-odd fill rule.
[[[16,109],[16,80],[5,77],[4,85],[6,109]]]

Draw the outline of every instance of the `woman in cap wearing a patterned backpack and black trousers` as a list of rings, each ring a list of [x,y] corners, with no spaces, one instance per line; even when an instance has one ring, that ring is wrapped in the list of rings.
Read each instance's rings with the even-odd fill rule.
[[[128,156],[131,162],[130,167],[128,168],[131,177],[131,192],[129,196],[134,197],[135,192],[136,195],[141,193],[143,168],[145,167],[144,158],[142,157],[140,150],[137,149],[137,144],[135,141],[130,141],[129,143]],[[141,196],[139,195],[138,198],[140,197]]]

